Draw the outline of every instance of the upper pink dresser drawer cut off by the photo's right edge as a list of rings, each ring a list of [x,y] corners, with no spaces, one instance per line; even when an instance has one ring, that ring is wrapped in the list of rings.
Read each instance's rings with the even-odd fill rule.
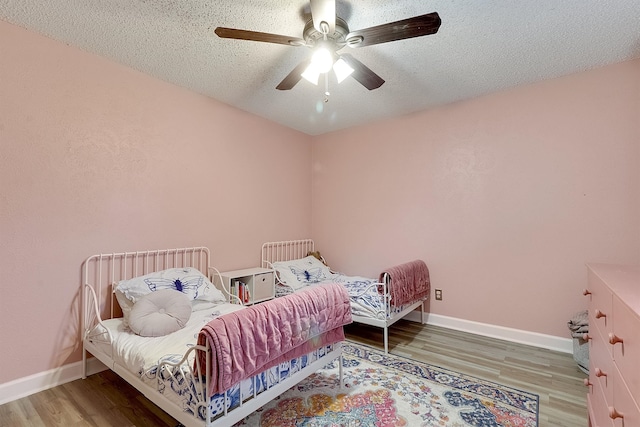
[[[613,299],[613,334],[622,340],[609,345],[613,360],[625,379],[627,387],[640,403],[640,318],[617,296]],[[607,337],[611,340],[611,337]],[[640,426],[640,424],[637,424]]]

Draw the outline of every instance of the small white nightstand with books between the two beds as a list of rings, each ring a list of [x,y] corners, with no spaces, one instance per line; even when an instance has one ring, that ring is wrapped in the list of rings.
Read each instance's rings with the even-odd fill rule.
[[[220,277],[215,272],[213,283],[216,286],[222,285],[230,294],[238,299],[232,298],[231,302],[242,301],[244,305],[251,305],[262,301],[267,301],[275,297],[276,288],[273,270],[268,268],[253,267],[242,270],[221,271]]]

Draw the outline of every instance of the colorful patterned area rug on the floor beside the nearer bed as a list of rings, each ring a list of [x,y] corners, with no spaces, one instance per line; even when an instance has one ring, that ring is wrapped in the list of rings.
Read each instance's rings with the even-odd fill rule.
[[[538,395],[347,342],[321,369],[238,426],[537,427]]]

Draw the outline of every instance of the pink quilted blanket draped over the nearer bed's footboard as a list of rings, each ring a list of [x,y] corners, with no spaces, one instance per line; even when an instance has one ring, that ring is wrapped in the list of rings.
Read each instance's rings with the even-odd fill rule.
[[[209,342],[210,395],[323,345],[344,340],[351,323],[349,295],[341,285],[314,286],[213,319],[198,336]],[[204,352],[198,357],[204,366]]]

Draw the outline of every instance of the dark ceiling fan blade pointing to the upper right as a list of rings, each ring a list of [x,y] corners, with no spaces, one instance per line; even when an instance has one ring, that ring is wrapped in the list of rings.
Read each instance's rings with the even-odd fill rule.
[[[437,12],[414,16],[401,21],[352,31],[347,34],[347,44],[351,47],[364,47],[435,34],[438,32],[441,22]]]

